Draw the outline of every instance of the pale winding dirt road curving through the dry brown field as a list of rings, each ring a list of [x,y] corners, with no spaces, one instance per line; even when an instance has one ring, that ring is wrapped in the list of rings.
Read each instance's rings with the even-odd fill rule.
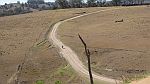
[[[114,8],[114,9],[116,10],[116,9],[120,9],[120,8]],[[75,16],[75,17],[57,22],[53,26],[53,29],[52,29],[51,33],[49,33],[49,36],[48,36],[49,41],[53,42],[53,45],[55,45],[55,47],[59,48],[60,54],[69,62],[69,64],[72,66],[72,68],[75,71],[77,71],[79,74],[82,74],[82,76],[84,76],[84,77],[89,77],[88,70],[83,65],[83,63],[79,60],[77,54],[70,47],[63,44],[57,38],[57,29],[64,22],[67,22],[67,21],[70,21],[70,20],[73,20],[73,19],[77,19],[77,18],[80,18],[80,17],[83,17],[83,16],[87,16],[87,15],[91,15],[91,14],[95,14],[95,13],[99,13],[99,12],[104,12],[104,11],[109,11],[109,10],[114,10],[114,9],[100,10],[100,11]],[[62,48],[62,45],[63,45],[64,48]],[[117,84],[121,83],[121,81],[119,81],[119,80],[103,77],[103,76],[97,75],[96,73],[93,74],[93,78],[96,81],[99,81],[99,82],[106,82],[106,84],[116,84],[116,82],[117,82]]]

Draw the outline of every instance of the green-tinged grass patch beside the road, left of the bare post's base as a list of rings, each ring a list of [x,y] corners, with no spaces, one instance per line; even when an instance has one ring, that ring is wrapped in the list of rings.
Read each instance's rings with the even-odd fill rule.
[[[53,78],[55,77],[55,78]],[[81,77],[74,72],[70,65],[62,66],[58,68],[53,74],[50,74],[49,81],[55,81],[55,84],[70,84],[75,80],[78,80],[78,83],[87,83],[87,81],[81,81]],[[68,79],[68,80],[65,80]],[[64,81],[65,80],[65,81]],[[53,82],[51,82],[53,83]]]

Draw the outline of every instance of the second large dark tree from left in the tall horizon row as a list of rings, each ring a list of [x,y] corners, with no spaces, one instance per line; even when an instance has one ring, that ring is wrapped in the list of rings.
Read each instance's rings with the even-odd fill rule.
[[[81,8],[82,4],[83,0],[69,0],[69,5],[73,8]]]

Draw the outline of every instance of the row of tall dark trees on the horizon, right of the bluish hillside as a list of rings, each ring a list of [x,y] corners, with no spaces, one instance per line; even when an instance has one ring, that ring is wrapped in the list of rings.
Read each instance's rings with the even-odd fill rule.
[[[58,8],[105,7],[105,6],[133,6],[142,5],[145,0],[55,0]]]

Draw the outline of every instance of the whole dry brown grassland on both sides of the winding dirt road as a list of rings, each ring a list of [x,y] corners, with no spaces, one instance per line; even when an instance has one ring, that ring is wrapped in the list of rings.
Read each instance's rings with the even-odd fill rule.
[[[141,78],[150,71],[150,7],[119,7],[62,24],[59,38],[86,65],[78,33],[91,52],[93,71],[116,78]],[[21,84],[87,84],[47,40],[51,26],[63,19],[110,8],[61,9],[0,17],[0,84],[17,75]],[[113,9],[113,8],[111,8]],[[115,22],[122,20],[123,22]],[[64,81],[65,80],[65,81]]]

